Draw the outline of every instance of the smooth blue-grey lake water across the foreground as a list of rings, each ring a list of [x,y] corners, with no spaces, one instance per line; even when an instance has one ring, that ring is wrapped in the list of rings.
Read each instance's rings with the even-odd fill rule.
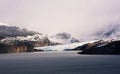
[[[76,51],[0,54],[0,74],[120,74],[120,55]]]

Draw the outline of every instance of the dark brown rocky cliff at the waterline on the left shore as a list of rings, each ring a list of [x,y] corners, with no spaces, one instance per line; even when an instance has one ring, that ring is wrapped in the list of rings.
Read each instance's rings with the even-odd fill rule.
[[[29,42],[17,42],[16,44],[0,43],[0,53],[33,52],[34,47]]]

